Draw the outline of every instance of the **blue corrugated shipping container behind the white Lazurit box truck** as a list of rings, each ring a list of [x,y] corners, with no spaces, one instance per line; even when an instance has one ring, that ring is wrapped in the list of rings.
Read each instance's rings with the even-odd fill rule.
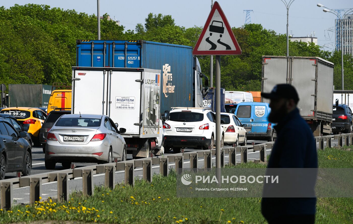
[[[77,40],[77,67],[130,67],[161,70],[161,110],[195,106],[192,47],[126,40]]]

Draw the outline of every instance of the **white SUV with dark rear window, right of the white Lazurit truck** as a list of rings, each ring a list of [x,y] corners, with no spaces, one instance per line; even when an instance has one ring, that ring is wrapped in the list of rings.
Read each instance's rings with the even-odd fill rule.
[[[216,116],[208,108],[173,108],[163,124],[164,150],[173,148],[174,153],[179,153],[181,148],[213,148],[217,139],[223,147],[222,125],[220,130],[221,136],[216,138]]]

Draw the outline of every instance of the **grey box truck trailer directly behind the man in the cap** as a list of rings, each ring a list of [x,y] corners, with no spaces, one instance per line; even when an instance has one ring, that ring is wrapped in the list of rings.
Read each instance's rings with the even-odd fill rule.
[[[329,135],[332,122],[334,64],[319,57],[262,57],[261,92],[288,83],[298,92],[301,117],[314,136]],[[261,97],[262,102],[269,102]]]

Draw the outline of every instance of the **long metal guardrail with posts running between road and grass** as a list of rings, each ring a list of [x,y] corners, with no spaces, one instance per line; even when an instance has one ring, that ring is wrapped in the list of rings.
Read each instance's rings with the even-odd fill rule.
[[[352,145],[353,134],[329,135],[323,137],[315,137],[319,143],[319,149],[324,149],[324,142],[327,147],[331,147],[331,138],[338,140],[338,146]],[[247,163],[247,154],[251,151],[259,151],[259,161],[266,161],[267,149],[272,148],[274,142],[267,142],[258,145],[238,146],[221,149],[221,167],[225,165],[225,155],[229,156],[229,164],[237,165],[237,153],[240,153],[240,163]],[[58,195],[54,200],[67,201],[69,198],[68,181],[70,179],[82,177],[82,194],[89,196],[93,195],[94,181],[93,175],[104,173],[104,186],[113,189],[115,186],[115,171],[124,170],[126,184],[134,185],[135,176],[134,169],[142,167],[143,179],[152,182],[152,165],[159,165],[160,174],[168,176],[169,163],[175,163],[175,170],[178,173],[182,172],[184,167],[184,159],[190,160],[190,169],[198,171],[198,158],[204,159],[204,170],[212,168],[212,156],[215,155],[215,149],[207,149],[196,152],[186,152],[170,154],[165,156],[157,156],[152,158],[133,159],[128,161],[114,162],[103,165],[84,166],[67,170],[59,170],[37,175],[25,177],[17,177],[4,179],[0,181],[0,208],[9,209],[13,203],[13,189],[21,187],[29,187],[30,204],[35,201],[40,201],[42,196],[42,184],[47,182],[57,182]],[[258,160],[257,160],[258,161]],[[45,200],[45,199],[44,199]]]

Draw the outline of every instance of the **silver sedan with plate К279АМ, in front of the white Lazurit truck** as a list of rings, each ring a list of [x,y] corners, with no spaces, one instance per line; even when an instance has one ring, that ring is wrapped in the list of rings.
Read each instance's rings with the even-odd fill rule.
[[[56,163],[65,169],[72,162],[112,163],[113,157],[126,160],[126,143],[118,124],[105,115],[64,114],[48,132],[45,167]]]

